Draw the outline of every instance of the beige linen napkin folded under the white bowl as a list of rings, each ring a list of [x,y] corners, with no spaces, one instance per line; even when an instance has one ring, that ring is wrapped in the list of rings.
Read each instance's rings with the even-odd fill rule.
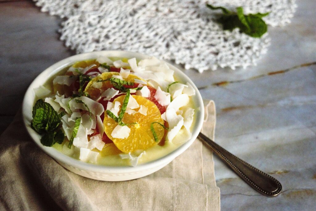
[[[214,140],[215,105],[203,132]],[[21,112],[0,136],[0,210],[220,210],[212,152],[199,140],[143,178],[104,182],[74,174],[28,136]]]

